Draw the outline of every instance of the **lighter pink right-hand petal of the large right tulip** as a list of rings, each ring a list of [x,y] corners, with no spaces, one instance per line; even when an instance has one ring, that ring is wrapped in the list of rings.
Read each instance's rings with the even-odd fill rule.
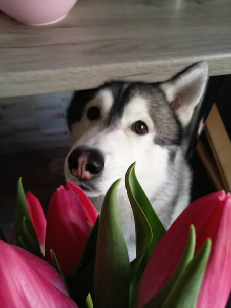
[[[201,233],[196,250],[212,238],[212,251],[205,272],[197,308],[224,308],[231,290],[231,197],[220,196],[217,208]],[[219,295],[219,296],[218,296]]]

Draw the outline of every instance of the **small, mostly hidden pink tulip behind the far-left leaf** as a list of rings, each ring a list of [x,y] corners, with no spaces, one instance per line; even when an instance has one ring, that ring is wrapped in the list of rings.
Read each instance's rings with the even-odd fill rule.
[[[28,192],[26,194],[27,206],[30,214],[32,224],[37,234],[38,242],[40,244],[41,252],[45,254],[45,238],[47,221],[44,215],[43,208],[39,200]]]

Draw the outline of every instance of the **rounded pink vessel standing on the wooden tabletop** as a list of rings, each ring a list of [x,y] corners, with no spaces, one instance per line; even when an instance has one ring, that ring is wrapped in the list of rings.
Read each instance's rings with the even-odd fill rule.
[[[40,26],[64,18],[77,0],[0,0],[0,11],[20,23]]]

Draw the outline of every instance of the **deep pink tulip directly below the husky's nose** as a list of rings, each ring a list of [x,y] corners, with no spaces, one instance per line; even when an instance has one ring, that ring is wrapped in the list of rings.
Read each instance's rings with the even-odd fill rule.
[[[79,264],[90,233],[88,222],[93,225],[98,216],[81,188],[68,181],[67,189],[60,186],[51,198],[45,245],[46,259],[53,264],[52,249],[64,274]]]

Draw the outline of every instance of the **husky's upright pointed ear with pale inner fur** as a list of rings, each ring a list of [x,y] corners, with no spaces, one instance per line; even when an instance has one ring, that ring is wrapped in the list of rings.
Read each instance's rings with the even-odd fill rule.
[[[160,84],[184,127],[190,123],[195,107],[203,99],[207,81],[208,65],[199,62]]]

